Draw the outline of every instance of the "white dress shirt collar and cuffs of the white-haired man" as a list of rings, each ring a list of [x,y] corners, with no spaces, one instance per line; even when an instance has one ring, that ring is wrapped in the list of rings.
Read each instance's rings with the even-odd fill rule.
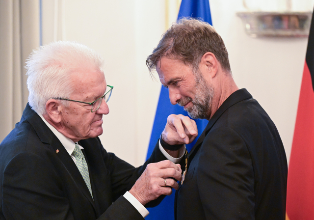
[[[51,124],[49,124],[48,121],[46,121],[46,119],[43,117],[43,115],[39,115],[39,116],[41,117],[41,119],[43,119],[45,124],[52,131],[52,133],[60,140],[61,144],[64,146],[66,151],[69,153],[69,155],[73,159],[74,163],[76,163],[75,157],[72,155],[74,148],[75,148],[75,142],[73,140],[71,140],[70,138],[65,137],[60,132],[58,132]],[[84,149],[82,146],[80,146],[80,145],[78,145],[78,146],[80,149]],[[180,162],[180,160],[183,157],[184,152],[185,152],[185,146],[184,146],[180,150],[180,155],[182,155],[182,156],[180,158],[173,158],[163,149],[163,147],[160,144],[160,141],[159,141],[159,149],[160,149],[161,153],[163,153],[163,155],[169,161],[171,161],[175,164]],[[123,196],[134,206],[134,208],[143,216],[143,218],[148,216],[148,214],[149,214],[148,210],[130,192],[127,191]]]

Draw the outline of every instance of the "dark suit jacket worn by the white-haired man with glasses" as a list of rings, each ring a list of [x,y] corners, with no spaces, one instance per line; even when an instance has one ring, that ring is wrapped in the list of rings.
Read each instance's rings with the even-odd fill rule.
[[[148,163],[166,160],[158,146],[143,166],[134,168],[107,153],[99,138],[79,144],[94,200],[71,156],[27,105],[21,121],[0,144],[0,219],[143,219],[122,195]]]

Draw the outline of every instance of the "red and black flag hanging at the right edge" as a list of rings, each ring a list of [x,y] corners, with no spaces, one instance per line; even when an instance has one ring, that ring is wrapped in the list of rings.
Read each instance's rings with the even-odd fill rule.
[[[314,16],[288,168],[287,214],[290,220],[314,220]]]

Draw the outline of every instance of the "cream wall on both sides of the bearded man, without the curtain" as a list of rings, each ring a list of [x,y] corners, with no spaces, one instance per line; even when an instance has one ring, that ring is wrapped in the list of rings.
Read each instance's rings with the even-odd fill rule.
[[[165,1],[57,2],[59,13],[54,20],[54,2],[43,0],[43,43],[75,40],[103,55],[106,80],[114,90],[110,113],[104,116],[102,142],[107,151],[140,165],[160,90],[145,60],[165,29]],[[312,4],[293,2],[295,8]],[[242,0],[210,0],[210,8],[213,26],[229,51],[236,83],[247,88],[273,119],[289,157],[307,39],[250,38],[235,16],[244,10]]]

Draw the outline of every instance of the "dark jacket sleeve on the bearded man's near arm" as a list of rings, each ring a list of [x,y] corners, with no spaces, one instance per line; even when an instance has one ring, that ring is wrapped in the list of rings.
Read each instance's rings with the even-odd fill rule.
[[[210,220],[254,220],[254,170],[243,139],[230,128],[211,130],[201,148],[199,196]]]

